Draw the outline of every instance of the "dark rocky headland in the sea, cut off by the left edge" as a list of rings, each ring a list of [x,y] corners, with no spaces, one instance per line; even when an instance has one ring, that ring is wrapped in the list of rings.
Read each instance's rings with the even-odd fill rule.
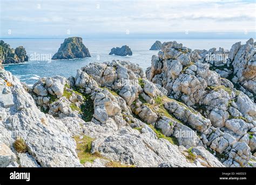
[[[0,60],[3,61],[3,64],[17,64],[28,61],[29,57],[26,55],[26,50],[23,46],[12,49],[9,44],[0,40]]]

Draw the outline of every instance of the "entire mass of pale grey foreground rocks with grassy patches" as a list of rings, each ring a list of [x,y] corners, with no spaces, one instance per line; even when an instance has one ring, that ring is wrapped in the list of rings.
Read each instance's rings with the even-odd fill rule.
[[[91,63],[28,90],[0,67],[0,167],[256,167],[255,64],[249,39],[165,42],[146,72]]]

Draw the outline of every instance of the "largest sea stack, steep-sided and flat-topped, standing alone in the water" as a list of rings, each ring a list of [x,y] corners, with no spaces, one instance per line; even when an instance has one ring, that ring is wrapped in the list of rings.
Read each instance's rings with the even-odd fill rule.
[[[53,55],[52,60],[85,57],[91,57],[91,54],[83,44],[83,39],[81,37],[69,37],[60,45],[58,52]]]

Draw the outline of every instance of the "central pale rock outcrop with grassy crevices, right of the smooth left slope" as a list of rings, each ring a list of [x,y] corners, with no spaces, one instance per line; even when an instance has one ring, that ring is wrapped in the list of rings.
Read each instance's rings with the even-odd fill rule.
[[[210,156],[218,161],[207,150],[205,159],[199,160],[200,155],[190,159],[187,150],[203,146],[203,143],[192,129],[172,119],[169,114],[167,117],[159,114],[156,109],[167,111],[164,105],[159,104],[159,99],[170,99],[159,91],[160,87],[145,78],[138,65],[119,60],[93,63],[78,70],[76,77],[58,82],[59,78],[41,79],[31,93],[39,108],[43,107],[45,113],[62,121],[70,133],[93,138],[91,155],[97,154],[98,157],[93,163],[85,162],[85,167],[107,167],[109,161],[137,167],[157,167],[162,163],[177,167],[203,167],[208,164]],[[58,85],[63,88],[59,97],[55,93],[50,94],[52,85],[58,83],[63,84]],[[51,99],[52,95],[55,99]],[[79,95],[82,98],[78,98]],[[44,101],[45,98],[50,98],[50,101]],[[51,107],[55,105],[58,111],[52,112]],[[64,113],[63,107],[70,112]],[[179,135],[186,131],[194,133],[192,138]],[[174,134],[178,143],[186,148],[174,145]],[[211,164],[209,166],[223,166],[220,162]]]

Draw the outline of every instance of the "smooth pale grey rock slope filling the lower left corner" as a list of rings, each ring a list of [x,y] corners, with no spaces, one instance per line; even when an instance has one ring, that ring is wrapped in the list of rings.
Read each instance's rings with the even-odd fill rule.
[[[21,161],[18,160],[18,152],[13,147],[18,138],[24,140],[29,157],[39,166],[82,166],[76,154],[76,142],[62,121],[41,112],[31,95],[9,72],[0,71],[0,87],[0,141],[6,148],[4,155],[10,154],[9,163],[5,166],[14,161],[22,166],[30,166],[24,165],[24,157]]]

